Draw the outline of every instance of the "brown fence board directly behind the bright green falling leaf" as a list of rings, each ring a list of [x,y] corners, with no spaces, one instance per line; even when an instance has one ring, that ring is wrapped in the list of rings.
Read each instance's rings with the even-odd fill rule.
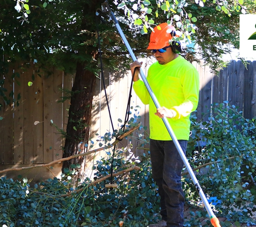
[[[25,67],[24,69],[24,164],[34,163],[34,141],[33,141],[33,125],[34,116],[33,109],[34,103],[33,97],[33,84],[29,86],[29,82],[32,80],[33,67]]]

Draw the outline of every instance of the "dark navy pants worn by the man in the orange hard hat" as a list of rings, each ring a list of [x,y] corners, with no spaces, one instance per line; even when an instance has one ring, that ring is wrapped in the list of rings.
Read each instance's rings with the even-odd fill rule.
[[[187,140],[178,140],[184,154]],[[161,196],[161,216],[168,227],[183,227],[185,197],[181,172],[183,161],[173,141],[150,139],[150,157],[153,178]]]

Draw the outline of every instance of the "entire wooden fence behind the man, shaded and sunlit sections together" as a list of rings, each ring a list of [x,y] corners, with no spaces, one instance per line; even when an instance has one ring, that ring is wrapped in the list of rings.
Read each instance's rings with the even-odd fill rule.
[[[229,101],[239,107],[246,118],[256,116],[256,61],[249,63],[246,69],[241,61],[232,61],[229,67],[220,70],[219,75],[210,73],[208,67],[194,64],[200,75],[198,118],[207,112],[211,103],[223,101]],[[148,64],[145,63],[144,66],[144,72],[147,72]],[[20,76],[13,80],[13,74],[17,73]],[[16,65],[9,69],[8,74],[1,76],[5,77],[4,88],[8,90],[6,94],[13,91],[17,98],[20,93],[21,99],[18,106],[4,105],[0,110],[0,117],[3,117],[0,120],[0,170],[49,163],[61,158],[64,140],[54,125],[65,130],[69,102],[58,101],[64,96],[63,90],[71,89],[73,75],[53,70],[53,75],[47,76],[43,72],[37,72],[34,65]],[[124,69],[117,73],[105,72],[104,76],[110,112],[116,129],[120,126],[117,119],[123,119],[126,112],[131,76]],[[29,82],[33,82],[32,86],[29,86]],[[148,108],[134,93],[131,105],[141,107],[138,110],[140,120],[143,125],[148,125]],[[92,137],[96,139],[96,133],[103,135],[112,131],[101,79],[98,79],[96,85],[92,116]],[[123,146],[127,143],[129,141],[121,141]],[[132,143],[136,146],[138,142],[133,139]],[[136,150],[135,155],[142,152]],[[99,155],[104,154],[102,152]],[[90,162],[93,161],[92,158]],[[88,165],[87,167],[91,168]],[[60,168],[61,163],[53,169],[47,169],[47,173],[39,169],[36,172],[37,179],[47,178],[52,174],[58,175]],[[30,173],[34,177],[35,172]],[[13,175],[17,173],[8,176]]]

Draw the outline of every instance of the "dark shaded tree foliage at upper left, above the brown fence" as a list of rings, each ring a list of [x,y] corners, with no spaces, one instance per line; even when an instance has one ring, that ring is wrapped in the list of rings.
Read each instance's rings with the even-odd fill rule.
[[[32,64],[36,61],[44,72],[56,66],[66,73],[74,73],[77,62],[85,62],[85,69],[97,74],[99,36],[104,65],[119,67],[126,63],[128,52],[113,23],[109,23],[107,18],[103,23],[95,15],[102,3],[103,0],[5,1],[1,4],[0,15],[0,54],[4,55],[0,73],[8,73],[10,63]],[[116,10],[114,4],[110,6]],[[146,41],[141,39],[140,33],[133,36],[135,33],[125,29],[123,22],[120,25],[126,36],[131,37],[129,41],[133,48],[141,52],[139,49],[146,46]],[[0,96],[8,104],[12,96],[5,94],[4,80],[0,84]]]

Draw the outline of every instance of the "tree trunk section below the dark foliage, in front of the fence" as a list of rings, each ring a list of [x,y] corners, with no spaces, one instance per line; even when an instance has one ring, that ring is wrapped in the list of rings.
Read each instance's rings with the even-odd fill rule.
[[[77,72],[72,88],[70,110],[68,112],[67,136],[63,158],[73,154],[86,152],[91,124],[92,101],[95,89],[96,76],[85,69],[85,64],[77,63]],[[84,158],[71,159],[63,162],[64,168],[71,164],[82,164]],[[81,174],[81,173],[80,173]]]

